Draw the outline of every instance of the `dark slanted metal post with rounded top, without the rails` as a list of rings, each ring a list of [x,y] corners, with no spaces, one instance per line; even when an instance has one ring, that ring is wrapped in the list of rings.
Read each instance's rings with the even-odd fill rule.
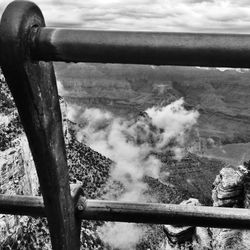
[[[40,9],[14,1],[0,24],[0,62],[28,137],[49,222],[53,249],[80,248],[79,222],[70,195],[65,143],[52,63],[33,61],[30,49]]]

